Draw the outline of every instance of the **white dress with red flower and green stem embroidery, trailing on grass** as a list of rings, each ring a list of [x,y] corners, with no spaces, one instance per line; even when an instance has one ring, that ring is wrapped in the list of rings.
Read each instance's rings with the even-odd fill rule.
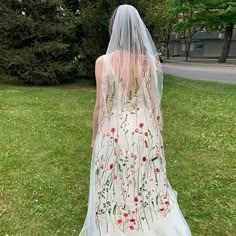
[[[100,116],[88,212],[79,236],[191,236],[166,175],[162,113],[143,99],[150,77],[143,73],[141,84],[133,74],[131,99],[114,104],[122,99],[117,93],[124,78],[117,78],[106,57],[101,90],[109,116]]]

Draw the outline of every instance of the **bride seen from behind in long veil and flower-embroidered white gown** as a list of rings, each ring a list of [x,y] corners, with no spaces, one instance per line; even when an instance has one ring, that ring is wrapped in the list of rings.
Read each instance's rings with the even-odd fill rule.
[[[79,236],[191,236],[166,174],[163,74],[138,11],[120,5],[96,60],[88,210]]]

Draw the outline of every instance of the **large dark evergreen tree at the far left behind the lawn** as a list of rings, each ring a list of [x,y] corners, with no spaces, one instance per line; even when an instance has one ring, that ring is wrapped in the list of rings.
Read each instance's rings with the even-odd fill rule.
[[[31,84],[58,84],[73,72],[73,17],[60,0],[0,5],[1,68]]]

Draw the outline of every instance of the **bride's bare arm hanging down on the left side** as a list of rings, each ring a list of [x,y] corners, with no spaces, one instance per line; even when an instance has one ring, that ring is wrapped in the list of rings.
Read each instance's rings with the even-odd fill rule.
[[[102,69],[103,69],[103,57],[99,57],[95,63],[95,78],[96,78],[96,103],[93,112],[93,133],[92,133],[92,144],[91,148],[93,148],[94,141],[98,131],[98,116],[100,109],[100,90],[101,90],[101,77],[102,77]]]

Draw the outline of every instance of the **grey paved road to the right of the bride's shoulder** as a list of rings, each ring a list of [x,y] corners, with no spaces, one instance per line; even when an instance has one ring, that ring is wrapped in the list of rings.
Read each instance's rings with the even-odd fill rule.
[[[236,83],[235,65],[212,65],[212,64],[186,64],[164,62],[163,71],[168,74],[181,76],[194,80],[222,81]]]

